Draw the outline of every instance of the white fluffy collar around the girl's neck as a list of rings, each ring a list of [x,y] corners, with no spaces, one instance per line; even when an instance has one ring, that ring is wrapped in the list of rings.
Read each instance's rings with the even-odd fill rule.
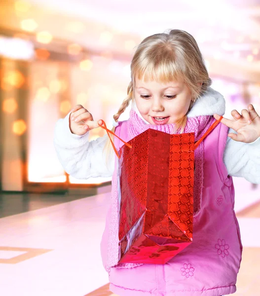
[[[140,118],[142,118],[145,123],[149,124],[136,107],[136,104],[133,100],[134,111],[138,114]],[[225,100],[221,93],[217,92],[211,87],[208,87],[207,91],[198,98],[191,108],[191,110],[187,113],[187,117],[195,117],[199,115],[213,115],[217,113],[219,115],[224,115],[225,113]]]

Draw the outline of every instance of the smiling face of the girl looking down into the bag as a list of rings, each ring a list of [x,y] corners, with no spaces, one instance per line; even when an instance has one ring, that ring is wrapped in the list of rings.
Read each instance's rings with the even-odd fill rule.
[[[181,81],[163,84],[135,79],[136,106],[150,124],[170,124],[185,116],[191,102],[191,92]]]

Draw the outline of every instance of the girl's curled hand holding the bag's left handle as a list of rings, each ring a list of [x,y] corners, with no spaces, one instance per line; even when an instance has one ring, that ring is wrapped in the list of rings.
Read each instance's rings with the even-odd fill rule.
[[[99,120],[102,124],[102,121]],[[94,121],[91,113],[82,105],[76,105],[70,114],[70,130],[73,134],[82,136],[93,128],[99,127],[98,121]]]

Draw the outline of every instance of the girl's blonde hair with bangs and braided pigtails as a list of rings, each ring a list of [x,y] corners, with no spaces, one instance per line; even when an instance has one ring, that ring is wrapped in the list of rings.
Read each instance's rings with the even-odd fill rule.
[[[113,115],[116,122],[134,100],[135,77],[145,82],[153,80],[160,83],[182,78],[192,96],[188,111],[212,83],[196,40],[182,30],[154,34],[139,44],[131,62],[131,82],[127,88],[127,97]],[[180,132],[183,133],[186,120],[185,115],[176,121],[175,131],[181,129]],[[113,127],[111,131],[114,130]],[[109,139],[104,151],[107,151],[108,159],[109,154],[113,152]]]

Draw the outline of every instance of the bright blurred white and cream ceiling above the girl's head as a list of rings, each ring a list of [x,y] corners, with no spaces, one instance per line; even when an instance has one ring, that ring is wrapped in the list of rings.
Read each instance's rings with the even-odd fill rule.
[[[224,66],[230,77],[260,81],[260,0],[28,0],[24,12],[15,11],[17,2],[25,1],[0,1],[1,27],[19,28],[22,18],[33,18],[36,32],[129,58],[144,37],[182,29],[195,37],[214,72]],[[78,23],[77,31],[70,22],[74,29]]]

